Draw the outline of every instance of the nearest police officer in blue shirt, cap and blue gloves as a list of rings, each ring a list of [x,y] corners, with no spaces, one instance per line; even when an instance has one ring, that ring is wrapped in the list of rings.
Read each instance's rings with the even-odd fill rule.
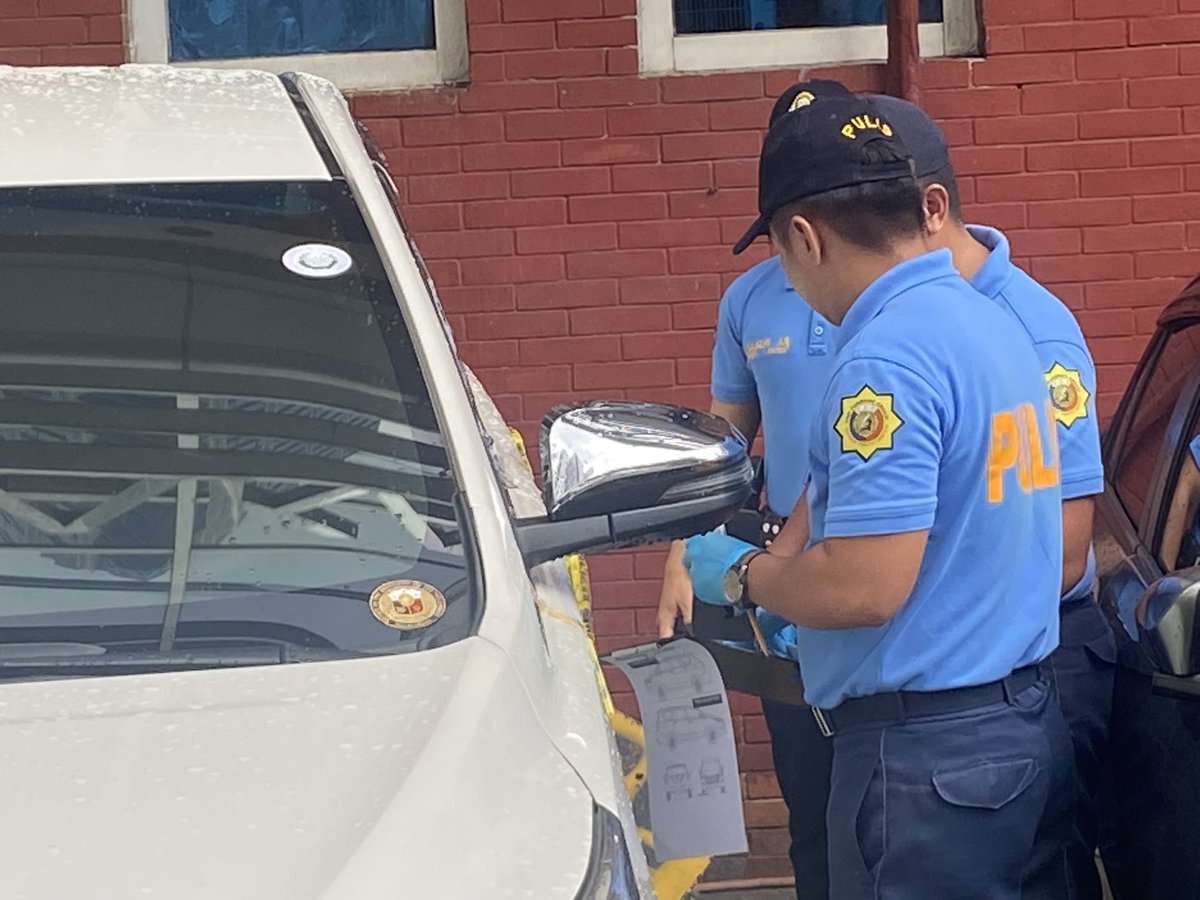
[[[797,623],[833,737],[830,896],[1063,898],[1069,738],[1057,642],[1061,492],[1027,335],[928,252],[912,160],[862,100],[782,116],[760,218],[841,325],[812,427],[805,548],[688,541],[708,602]],[[932,892],[932,893],[931,893]]]

